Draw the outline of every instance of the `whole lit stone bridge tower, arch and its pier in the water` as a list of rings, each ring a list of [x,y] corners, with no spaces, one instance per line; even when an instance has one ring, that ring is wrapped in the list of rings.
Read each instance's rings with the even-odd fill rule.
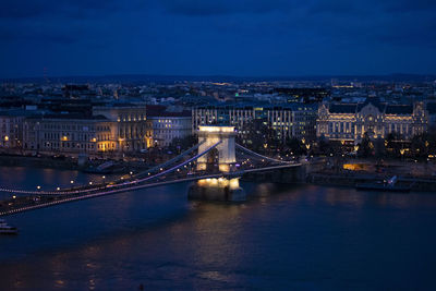
[[[203,179],[190,186],[187,197],[191,199],[206,201],[245,201],[245,191],[239,185],[239,178],[227,175],[235,169],[235,144],[237,133],[234,126],[201,125],[198,126],[198,153],[204,153],[216,145],[216,150],[197,159],[197,170],[207,170],[209,155],[218,151],[218,170],[223,173],[221,178]]]

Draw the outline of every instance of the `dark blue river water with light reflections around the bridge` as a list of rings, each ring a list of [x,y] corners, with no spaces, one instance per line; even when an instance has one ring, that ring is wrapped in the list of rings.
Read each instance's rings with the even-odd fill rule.
[[[10,171],[1,184],[77,179]],[[178,184],[8,217],[21,233],[0,237],[0,290],[436,289],[436,195],[243,186],[239,205]]]

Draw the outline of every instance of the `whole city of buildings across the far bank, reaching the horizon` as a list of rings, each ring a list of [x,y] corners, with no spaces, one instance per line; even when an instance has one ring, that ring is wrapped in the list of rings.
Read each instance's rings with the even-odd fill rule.
[[[0,86],[0,150],[118,155],[167,148],[199,125],[279,144],[410,141],[436,126],[436,83],[173,82]],[[276,144],[277,144],[276,143]],[[265,141],[267,146],[268,141]],[[277,146],[277,145],[276,145]]]

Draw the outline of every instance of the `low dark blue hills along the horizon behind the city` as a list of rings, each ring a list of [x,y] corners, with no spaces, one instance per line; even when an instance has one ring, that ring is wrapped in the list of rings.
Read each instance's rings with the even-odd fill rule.
[[[313,76],[183,76],[183,75],[146,75],[122,74],[101,76],[59,76],[49,77],[51,83],[121,83],[121,84],[173,84],[178,82],[274,82],[274,81],[310,81],[310,82],[434,82],[436,75],[422,74],[389,74],[389,75],[313,75]],[[46,83],[44,77],[0,78],[2,83]]]

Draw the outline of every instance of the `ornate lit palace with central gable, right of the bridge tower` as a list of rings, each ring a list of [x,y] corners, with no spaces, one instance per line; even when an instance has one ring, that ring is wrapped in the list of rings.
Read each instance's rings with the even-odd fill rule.
[[[425,132],[427,114],[423,102],[388,105],[377,98],[362,104],[322,104],[318,108],[317,137],[358,144],[365,134],[386,138],[397,134],[402,140]]]

